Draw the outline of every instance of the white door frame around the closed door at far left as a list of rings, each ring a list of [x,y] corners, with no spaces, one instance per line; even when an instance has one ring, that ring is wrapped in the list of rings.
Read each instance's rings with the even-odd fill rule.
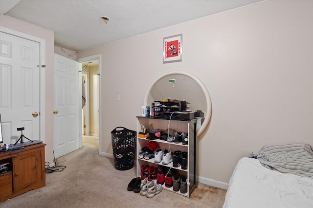
[[[45,39],[31,36],[16,30],[0,26],[0,31],[9,35],[38,42],[40,45],[40,89],[39,89],[39,140],[45,143]]]

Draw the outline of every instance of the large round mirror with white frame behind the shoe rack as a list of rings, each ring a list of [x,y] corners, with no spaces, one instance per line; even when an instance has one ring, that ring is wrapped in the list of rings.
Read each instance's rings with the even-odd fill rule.
[[[157,77],[149,86],[143,105],[151,105],[160,99],[176,99],[187,101],[187,110],[200,111],[204,116],[198,117],[197,135],[208,125],[212,105],[210,95],[204,84],[196,76],[182,71],[172,71]],[[200,114],[202,114],[200,113]]]

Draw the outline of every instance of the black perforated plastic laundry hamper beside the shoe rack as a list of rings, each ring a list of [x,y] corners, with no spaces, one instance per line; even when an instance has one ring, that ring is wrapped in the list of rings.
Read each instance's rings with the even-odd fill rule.
[[[132,169],[136,153],[136,132],[116,127],[112,130],[111,137],[115,169]]]

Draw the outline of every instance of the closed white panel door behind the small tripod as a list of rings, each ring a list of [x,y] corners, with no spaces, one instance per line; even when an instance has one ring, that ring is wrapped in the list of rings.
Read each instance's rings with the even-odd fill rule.
[[[0,33],[0,113],[5,144],[20,138],[17,128],[21,127],[25,137],[40,140],[39,66],[40,43]]]

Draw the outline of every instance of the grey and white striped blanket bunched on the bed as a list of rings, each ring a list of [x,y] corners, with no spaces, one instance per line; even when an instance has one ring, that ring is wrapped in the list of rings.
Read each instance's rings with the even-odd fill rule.
[[[255,156],[270,170],[313,178],[313,150],[309,144],[267,145]]]

